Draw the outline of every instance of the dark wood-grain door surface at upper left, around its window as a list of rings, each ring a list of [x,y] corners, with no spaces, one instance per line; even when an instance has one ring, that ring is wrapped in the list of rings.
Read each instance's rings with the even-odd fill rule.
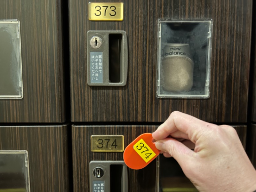
[[[0,1],[0,20],[20,20],[24,95],[0,100],[0,123],[65,121],[60,2]]]

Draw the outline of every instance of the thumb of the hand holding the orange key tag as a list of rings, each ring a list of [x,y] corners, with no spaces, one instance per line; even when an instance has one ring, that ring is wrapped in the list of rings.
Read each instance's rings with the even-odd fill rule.
[[[191,159],[196,154],[183,143],[173,138],[157,140],[155,144],[158,150],[169,153],[181,167],[183,164],[186,164],[188,159]]]

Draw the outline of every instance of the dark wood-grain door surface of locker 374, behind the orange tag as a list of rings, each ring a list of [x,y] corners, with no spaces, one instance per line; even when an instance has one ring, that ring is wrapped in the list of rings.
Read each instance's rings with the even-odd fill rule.
[[[140,134],[153,132],[158,126],[72,126],[72,158],[74,192],[90,189],[90,161],[123,160],[122,152],[91,152],[91,135],[124,135],[124,148]],[[234,126],[244,147],[246,143],[246,126]],[[141,170],[128,168],[128,189],[130,192],[156,191],[156,161],[152,161]]]

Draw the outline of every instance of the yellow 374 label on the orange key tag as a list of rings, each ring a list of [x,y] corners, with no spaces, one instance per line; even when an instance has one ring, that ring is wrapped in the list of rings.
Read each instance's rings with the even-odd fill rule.
[[[148,163],[148,161],[156,156],[156,153],[148,146],[148,144],[143,139],[139,140],[133,146],[133,149],[146,163]]]

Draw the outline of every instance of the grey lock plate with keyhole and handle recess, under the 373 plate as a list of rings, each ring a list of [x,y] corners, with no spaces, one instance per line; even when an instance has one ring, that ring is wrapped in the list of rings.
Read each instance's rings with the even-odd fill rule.
[[[125,31],[87,32],[87,84],[125,86],[128,45]]]

